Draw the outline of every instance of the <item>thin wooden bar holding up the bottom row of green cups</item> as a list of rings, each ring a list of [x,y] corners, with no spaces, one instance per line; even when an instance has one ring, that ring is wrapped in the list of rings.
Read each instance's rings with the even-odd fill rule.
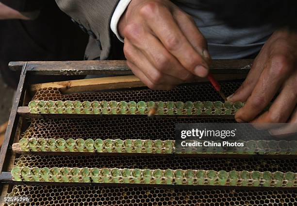
[[[127,183],[76,183],[76,182],[25,182],[13,181],[10,172],[0,174],[0,183],[13,185],[39,185],[39,186],[99,186],[99,187],[151,187],[170,189],[240,189],[240,190],[297,190],[297,188],[276,187],[247,187],[247,186],[211,186],[211,185],[155,185],[155,184],[127,184]]]

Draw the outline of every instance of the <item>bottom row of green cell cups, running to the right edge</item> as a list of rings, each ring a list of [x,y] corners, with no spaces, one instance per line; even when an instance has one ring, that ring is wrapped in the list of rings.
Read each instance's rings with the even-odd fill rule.
[[[294,172],[15,167],[15,181],[296,187]]]

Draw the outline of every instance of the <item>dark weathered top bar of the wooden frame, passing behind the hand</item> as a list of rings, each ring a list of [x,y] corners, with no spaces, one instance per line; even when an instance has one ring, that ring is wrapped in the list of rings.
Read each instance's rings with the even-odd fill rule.
[[[214,60],[212,73],[247,73],[253,60]],[[12,70],[20,70],[25,62],[10,62]],[[96,74],[132,74],[126,61],[56,61],[28,62],[27,72],[36,75],[96,75]]]

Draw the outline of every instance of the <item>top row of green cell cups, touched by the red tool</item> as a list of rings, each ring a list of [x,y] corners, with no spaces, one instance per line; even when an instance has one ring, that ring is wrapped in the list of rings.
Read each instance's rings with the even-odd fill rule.
[[[236,102],[107,102],[107,101],[31,101],[31,113],[52,114],[148,114],[156,108],[158,115],[234,114],[244,103]]]

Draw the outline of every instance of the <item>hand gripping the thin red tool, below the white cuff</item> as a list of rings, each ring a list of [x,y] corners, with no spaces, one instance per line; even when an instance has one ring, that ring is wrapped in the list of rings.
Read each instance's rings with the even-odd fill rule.
[[[193,18],[169,0],[132,0],[118,31],[128,66],[151,89],[172,89],[208,74],[205,38]]]

